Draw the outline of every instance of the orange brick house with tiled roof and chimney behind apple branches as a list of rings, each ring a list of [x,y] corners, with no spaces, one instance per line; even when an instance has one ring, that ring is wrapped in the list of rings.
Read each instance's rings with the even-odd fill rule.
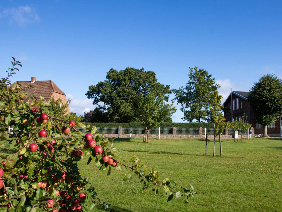
[[[27,94],[25,101],[28,101],[30,96],[39,99],[39,96],[42,95],[46,101],[50,101],[54,97],[55,100],[60,98],[63,104],[67,103],[66,94],[52,80],[36,81],[35,77],[31,77],[31,81],[17,81],[10,86],[16,86],[17,84],[23,88],[29,85],[33,87],[25,91]],[[69,107],[67,107],[67,113],[70,113]]]

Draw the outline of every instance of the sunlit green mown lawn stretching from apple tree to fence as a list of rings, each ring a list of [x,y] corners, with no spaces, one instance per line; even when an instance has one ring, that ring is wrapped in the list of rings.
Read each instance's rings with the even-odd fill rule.
[[[282,211],[282,140],[244,139],[243,143],[223,140],[219,156],[212,156],[213,141],[208,144],[197,139],[116,139],[114,146],[120,157],[128,161],[133,155],[154,167],[159,179],[169,178],[180,186],[194,186],[198,193],[184,203],[184,198],[166,202],[166,194],[158,195],[149,188],[142,191],[142,183],[135,176],[122,181],[128,169],[100,172],[94,163],[80,162],[81,174],[88,176],[101,201],[110,202],[114,211]],[[94,211],[103,210],[98,205]]]

